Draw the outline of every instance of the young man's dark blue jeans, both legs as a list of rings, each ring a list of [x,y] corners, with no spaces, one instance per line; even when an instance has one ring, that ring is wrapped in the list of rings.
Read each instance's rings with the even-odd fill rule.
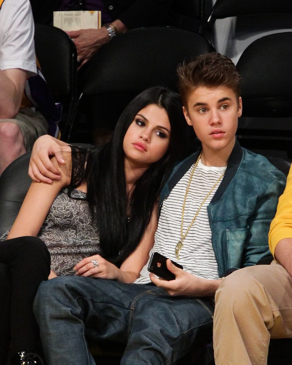
[[[34,303],[49,365],[95,365],[86,335],[127,344],[121,364],[173,364],[212,338],[214,302],[153,285],[78,276],[43,282]]]

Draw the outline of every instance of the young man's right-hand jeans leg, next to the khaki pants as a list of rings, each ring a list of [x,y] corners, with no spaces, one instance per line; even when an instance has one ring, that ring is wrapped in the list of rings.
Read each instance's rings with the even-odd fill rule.
[[[173,364],[212,339],[214,301],[170,297],[149,287],[133,301],[130,334],[121,365]]]

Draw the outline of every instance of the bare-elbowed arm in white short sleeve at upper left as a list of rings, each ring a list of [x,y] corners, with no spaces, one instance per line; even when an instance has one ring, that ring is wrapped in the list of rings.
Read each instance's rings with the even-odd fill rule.
[[[30,2],[4,1],[0,23],[0,118],[11,119],[19,111],[27,77],[37,73]]]

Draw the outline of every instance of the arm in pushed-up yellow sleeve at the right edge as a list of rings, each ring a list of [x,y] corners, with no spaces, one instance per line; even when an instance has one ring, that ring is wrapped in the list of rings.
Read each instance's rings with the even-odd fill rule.
[[[270,225],[269,246],[274,258],[292,276],[292,167]]]

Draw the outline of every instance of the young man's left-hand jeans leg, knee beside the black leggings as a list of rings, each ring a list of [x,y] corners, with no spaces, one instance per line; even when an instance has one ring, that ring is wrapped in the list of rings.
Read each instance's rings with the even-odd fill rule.
[[[47,364],[95,365],[85,333],[96,340],[127,343],[132,302],[147,288],[78,276],[43,282],[34,312]]]

